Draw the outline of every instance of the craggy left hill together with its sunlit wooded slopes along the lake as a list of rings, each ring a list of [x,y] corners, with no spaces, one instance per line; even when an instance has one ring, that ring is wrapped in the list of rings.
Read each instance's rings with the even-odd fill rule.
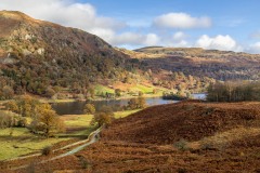
[[[114,49],[94,35],[21,12],[1,11],[0,28],[0,99],[25,93],[86,98],[93,95],[96,85],[121,89],[128,95],[136,94],[139,85],[185,95],[202,92],[214,81],[183,72],[172,75],[157,67],[151,70],[145,62],[129,54],[131,51]],[[107,90],[95,90],[95,95]]]

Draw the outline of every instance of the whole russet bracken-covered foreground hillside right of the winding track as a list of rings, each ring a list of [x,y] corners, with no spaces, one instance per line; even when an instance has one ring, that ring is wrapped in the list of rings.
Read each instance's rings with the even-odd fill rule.
[[[196,101],[154,106],[116,120],[101,141],[26,172],[259,172],[260,104]],[[54,156],[52,156],[54,157]],[[5,171],[5,170],[3,170]],[[8,172],[8,171],[5,171]]]

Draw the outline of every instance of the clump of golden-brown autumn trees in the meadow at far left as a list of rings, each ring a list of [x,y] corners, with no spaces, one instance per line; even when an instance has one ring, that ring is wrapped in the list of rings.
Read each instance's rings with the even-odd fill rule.
[[[29,129],[34,133],[50,136],[64,130],[63,121],[52,109],[50,104],[41,104],[39,101],[34,99],[30,96],[22,96],[16,101],[5,103],[4,106],[6,110],[16,112],[21,117],[17,123],[12,123],[16,127],[25,127],[27,123],[25,122],[25,117],[29,117],[32,119]],[[10,119],[10,116],[5,117],[5,119]],[[11,118],[13,119],[13,117]]]

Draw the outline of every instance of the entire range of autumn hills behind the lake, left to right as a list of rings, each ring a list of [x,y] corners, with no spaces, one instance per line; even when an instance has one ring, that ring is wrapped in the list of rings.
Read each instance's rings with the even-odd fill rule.
[[[86,98],[120,89],[204,92],[216,80],[258,80],[260,57],[246,53],[151,46],[114,49],[76,28],[0,12],[0,99],[16,94]],[[139,90],[140,91],[140,90]],[[112,93],[113,93],[112,92]],[[131,95],[131,94],[130,94]]]

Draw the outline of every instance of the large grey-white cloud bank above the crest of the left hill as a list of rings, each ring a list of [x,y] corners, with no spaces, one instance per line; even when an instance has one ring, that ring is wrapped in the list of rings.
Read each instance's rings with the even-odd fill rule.
[[[74,0],[1,0],[0,10],[22,11],[35,18],[76,27],[109,40],[115,31],[126,27],[122,22],[96,14],[89,3]]]

